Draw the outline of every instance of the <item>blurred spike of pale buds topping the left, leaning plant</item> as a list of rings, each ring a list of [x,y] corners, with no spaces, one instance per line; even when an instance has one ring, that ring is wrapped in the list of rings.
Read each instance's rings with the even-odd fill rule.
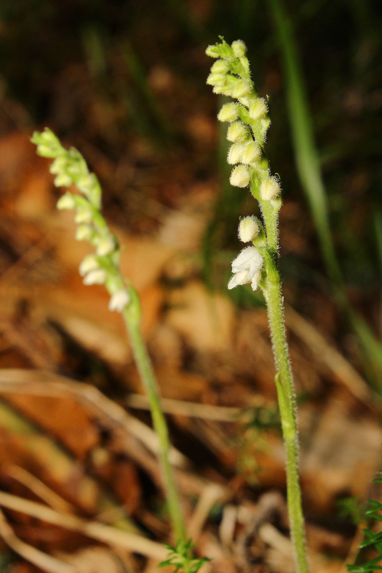
[[[77,241],[88,241],[95,252],[85,256],[80,264],[84,284],[104,284],[111,295],[109,309],[122,312],[129,304],[130,295],[119,268],[120,249],[117,238],[101,214],[101,187],[79,151],[67,150],[54,135],[45,128],[34,132],[31,142],[37,145],[37,153],[54,159],[50,172],[56,175],[57,187],[77,187],[80,193],[66,191],[57,202],[57,209],[75,210],[74,220],[78,224]]]

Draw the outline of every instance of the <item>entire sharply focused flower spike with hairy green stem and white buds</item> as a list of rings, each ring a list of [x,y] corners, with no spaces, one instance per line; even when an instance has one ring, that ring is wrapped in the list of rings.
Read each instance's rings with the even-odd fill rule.
[[[239,239],[249,243],[232,261],[233,276],[228,288],[251,284],[262,289],[267,305],[277,375],[278,405],[286,449],[286,482],[290,532],[294,545],[297,573],[308,572],[305,550],[304,516],[298,478],[298,440],[296,397],[289,362],[283,317],[281,278],[278,258],[278,211],[282,205],[281,183],[272,174],[265,154],[266,132],[270,125],[268,102],[259,97],[251,80],[246,46],[241,40],[208,46],[207,56],[215,58],[207,84],[214,93],[233,98],[223,105],[219,121],[229,123],[227,140],[231,142],[227,161],[233,166],[230,183],[250,187],[257,200],[262,222],[254,216],[239,222]]]

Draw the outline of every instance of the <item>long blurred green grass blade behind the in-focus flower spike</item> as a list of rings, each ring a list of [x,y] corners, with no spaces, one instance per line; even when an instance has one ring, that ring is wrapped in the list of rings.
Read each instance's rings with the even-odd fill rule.
[[[293,136],[297,171],[312,211],[322,258],[333,283],[334,298],[356,333],[365,355],[371,360],[372,364],[375,364],[375,372],[378,375],[382,368],[380,342],[376,339],[363,317],[356,313],[349,303],[334,249],[329,225],[328,199],[324,182],[322,181],[320,159],[314,143],[308,96],[293,34],[292,21],[286,13],[282,0],[271,0],[270,8],[283,59],[290,128]]]

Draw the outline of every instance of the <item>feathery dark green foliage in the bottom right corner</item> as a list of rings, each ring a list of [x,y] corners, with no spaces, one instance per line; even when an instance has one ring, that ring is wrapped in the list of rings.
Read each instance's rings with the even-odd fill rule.
[[[373,480],[382,484],[382,477]],[[365,519],[382,522],[382,503],[380,501],[368,501],[369,509],[365,511]],[[382,571],[382,531],[373,533],[371,529],[365,528],[364,540],[359,545],[360,550],[375,550],[377,556],[363,564],[348,565],[348,571],[351,573],[373,573],[373,571]]]

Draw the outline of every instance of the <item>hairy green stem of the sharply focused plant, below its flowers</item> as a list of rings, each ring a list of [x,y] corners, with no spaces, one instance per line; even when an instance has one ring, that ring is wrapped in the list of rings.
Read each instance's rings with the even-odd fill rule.
[[[266,301],[278,375],[275,378],[281,425],[286,451],[286,485],[290,534],[294,545],[296,572],[308,573],[305,549],[304,515],[302,514],[301,489],[298,478],[298,433],[296,397],[290,368],[288,343],[281,293],[281,280],[271,254],[264,252],[266,262]]]

